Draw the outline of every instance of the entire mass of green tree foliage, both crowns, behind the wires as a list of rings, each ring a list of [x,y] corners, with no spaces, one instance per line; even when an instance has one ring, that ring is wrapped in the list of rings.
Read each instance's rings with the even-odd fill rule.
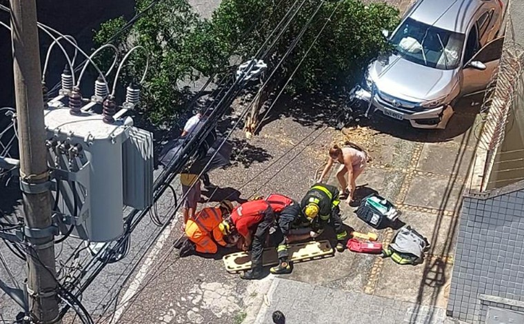
[[[147,8],[150,1],[137,0],[137,12]],[[303,8],[276,41],[276,34],[272,31],[288,9],[302,1]],[[277,2],[279,6],[276,6]],[[113,41],[121,54],[136,45],[145,48],[145,51],[132,54],[119,84],[127,85],[141,77],[146,52],[149,53],[150,67],[142,84],[141,106],[153,123],[175,119],[188,98],[182,83],[225,71],[230,54],[241,57],[243,61],[256,56],[264,59],[272,69],[319,3],[317,0],[222,0],[211,19],[201,19],[193,12],[188,0],[159,1],[134,23],[129,32]],[[339,81],[354,82],[361,77],[362,69],[371,59],[387,50],[381,30],[392,30],[396,26],[398,10],[386,3],[326,1],[283,63],[281,78],[288,76],[299,64],[336,6],[339,8],[332,21],[295,74],[290,84],[292,90],[307,91]],[[105,43],[124,24],[123,18],[103,23],[94,35],[94,43]],[[274,46],[268,52],[257,53],[265,41],[275,41]],[[104,67],[111,60],[108,53],[101,55]],[[272,85],[277,84],[278,81],[272,82]]]

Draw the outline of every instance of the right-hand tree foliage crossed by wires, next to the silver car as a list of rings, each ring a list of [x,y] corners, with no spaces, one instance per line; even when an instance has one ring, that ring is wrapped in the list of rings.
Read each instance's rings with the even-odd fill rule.
[[[386,3],[365,4],[359,0],[326,1],[314,17],[310,27],[290,57],[283,63],[283,71],[290,74],[305,55],[316,34],[336,6],[332,21],[328,23],[310,54],[295,74],[291,87],[296,90],[312,90],[332,85],[339,79],[354,82],[361,76],[361,70],[374,57],[387,50],[381,30],[392,30],[399,22],[399,11]],[[298,1],[301,3],[301,1]],[[239,43],[236,54],[248,58],[256,54],[267,39],[272,41],[272,30],[278,25],[294,1],[282,1],[276,7],[276,0],[223,0],[212,17],[212,32],[216,42],[228,44],[226,50]],[[310,19],[319,1],[305,0],[303,8],[296,14],[289,28],[276,42],[274,48],[263,59],[276,65],[283,57],[290,43]],[[243,35],[252,23],[261,17],[254,32]],[[218,41],[219,40],[219,41]],[[260,55],[257,58],[261,58]]]

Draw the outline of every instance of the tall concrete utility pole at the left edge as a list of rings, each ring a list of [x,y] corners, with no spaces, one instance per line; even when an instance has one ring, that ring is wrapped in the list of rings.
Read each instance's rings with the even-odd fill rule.
[[[10,0],[14,90],[20,150],[32,321],[52,323],[59,316],[51,221],[46,130],[43,121],[41,65],[35,0]]]

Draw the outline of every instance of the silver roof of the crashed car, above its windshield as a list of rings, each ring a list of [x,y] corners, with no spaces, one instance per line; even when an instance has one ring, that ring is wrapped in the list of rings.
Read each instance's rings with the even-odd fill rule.
[[[465,34],[485,0],[420,0],[409,17],[427,25]]]

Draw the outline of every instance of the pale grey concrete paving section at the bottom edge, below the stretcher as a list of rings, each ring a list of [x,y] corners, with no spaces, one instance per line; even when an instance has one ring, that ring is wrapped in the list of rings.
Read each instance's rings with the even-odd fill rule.
[[[280,310],[285,324],[451,324],[445,310],[371,296],[344,292],[287,279],[275,278],[254,324],[270,324],[272,313]]]

